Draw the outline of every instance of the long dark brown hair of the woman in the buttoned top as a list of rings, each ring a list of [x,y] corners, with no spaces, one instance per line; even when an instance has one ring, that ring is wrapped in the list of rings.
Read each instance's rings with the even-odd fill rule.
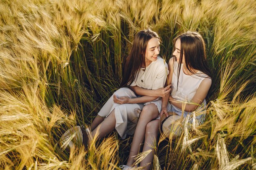
[[[145,53],[148,41],[151,38],[159,38],[151,29],[139,31],[133,40],[132,49],[124,60],[124,71],[120,87],[130,86],[135,80],[139,69],[146,66]]]

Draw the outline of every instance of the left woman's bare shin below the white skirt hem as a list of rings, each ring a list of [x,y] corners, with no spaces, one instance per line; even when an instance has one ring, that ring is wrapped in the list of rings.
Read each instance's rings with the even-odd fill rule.
[[[103,138],[112,132],[115,129],[116,119],[115,119],[115,109],[108,115],[106,119],[104,119],[97,128],[92,131],[92,136],[95,135],[97,130],[99,129],[99,138]]]

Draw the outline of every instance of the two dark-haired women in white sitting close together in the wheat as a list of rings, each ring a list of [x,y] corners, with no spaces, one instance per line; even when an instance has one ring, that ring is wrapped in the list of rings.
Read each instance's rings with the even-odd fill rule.
[[[159,57],[160,38],[157,33],[147,29],[135,35],[132,49],[125,59],[121,88],[108,99],[90,126],[92,136],[98,131],[99,138],[114,129],[122,139],[127,134],[134,134],[128,162],[120,166],[123,170],[135,166],[134,156],[138,155],[142,143],[142,152],[152,152],[139,166],[150,169],[155,152],[151,146],[160,132],[160,117],[168,117],[171,112],[173,114],[168,120],[173,122],[206,106],[211,73],[202,36],[188,31],[173,42],[173,57],[167,66]],[[184,102],[186,105],[182,104]],[[197,119],[203,121],[203,115]],[[83,132],[85,146],[88,144],[88,131]]]

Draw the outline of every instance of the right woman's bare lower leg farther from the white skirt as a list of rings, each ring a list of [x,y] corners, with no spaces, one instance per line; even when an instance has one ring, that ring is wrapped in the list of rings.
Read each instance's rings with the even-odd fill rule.
[[[157,135],[159,133],[159,119],[150,121],[146,126],[145,143],[143,152],[152,150],[140,163],[140,166],[144,166],[145,170],[149,170],[154,158],[155,147],[157,144]]]

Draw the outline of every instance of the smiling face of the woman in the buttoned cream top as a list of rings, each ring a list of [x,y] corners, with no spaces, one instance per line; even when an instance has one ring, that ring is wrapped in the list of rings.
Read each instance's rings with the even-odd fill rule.
[[[148,41],[146,54],[145,54],[145,61],[146,66],[148,66],[151,62],[157,60],[157,56],[160,52],[160,42],[158,38],[151,38]]]

